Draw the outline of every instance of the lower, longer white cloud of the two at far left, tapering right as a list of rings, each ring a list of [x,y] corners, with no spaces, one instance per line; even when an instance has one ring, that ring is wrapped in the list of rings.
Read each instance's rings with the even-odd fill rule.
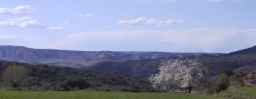
[[[0,21],[2,28],[40,28],[46,30],[64,30],[62,26],[50,27],[40,23],[32,17],[10,18],[6,21]]]

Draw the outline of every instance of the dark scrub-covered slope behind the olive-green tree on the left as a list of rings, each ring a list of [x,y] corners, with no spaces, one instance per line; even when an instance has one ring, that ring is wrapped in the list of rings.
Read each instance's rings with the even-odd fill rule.
[[[85,79],[90,89],[97,91],[151,91],[149,82],[144,78],[106,72],[85,71],[63,66],[31,65],[18,62],[0,61],[0,74],[12,64],[28,69],[28,81],[21,88],[33,91],[54,90],[73,79]],[[0,77],[0,81],[3,80]],[[3,86],[0,83],[0,88]],[[48,86],[48,87],[46,87]],[[47,88],[47,89],[46,89]]]

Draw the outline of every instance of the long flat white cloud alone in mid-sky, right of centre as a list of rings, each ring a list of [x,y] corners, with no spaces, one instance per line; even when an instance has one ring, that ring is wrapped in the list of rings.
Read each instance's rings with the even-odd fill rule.
[[[132,20],[122,20],[119,21],[119,25],[126,25],[126,26],[174,26],[174,25],[181,25],[183,21],[181,20],[156,20],[154,18],[137,18]]]

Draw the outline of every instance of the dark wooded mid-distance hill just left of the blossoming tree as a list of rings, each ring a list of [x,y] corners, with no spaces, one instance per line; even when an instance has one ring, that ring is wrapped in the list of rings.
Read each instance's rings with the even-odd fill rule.
[[[139,76],[149,76],[158,73],[158,67],[163,59],[146,59],[127,62],[99,62],[84,69],[91,71],[107,71],[110,73],[132,74]]]

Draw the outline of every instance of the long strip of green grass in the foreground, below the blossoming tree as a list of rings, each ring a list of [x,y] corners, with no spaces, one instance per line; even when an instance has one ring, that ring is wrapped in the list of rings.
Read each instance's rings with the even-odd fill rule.
[[[125,93],[102,91],[0,91],[0,99],[215,99],[186,93]]]

